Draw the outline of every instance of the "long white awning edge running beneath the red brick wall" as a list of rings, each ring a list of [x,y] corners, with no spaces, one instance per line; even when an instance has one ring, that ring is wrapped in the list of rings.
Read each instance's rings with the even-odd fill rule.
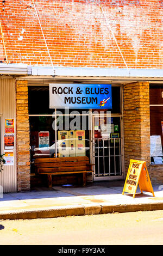
[[[55,72],[54,72],[55,71]],[[55,74],[55,75],[54,75]],[[163,80],[163,69],[118,69],[118,68],[78,68],[55,66],[28,66],[26,64],[0,63],[0,75],[31,75],[51,77],[106,77],[108,78],[158,78]]]

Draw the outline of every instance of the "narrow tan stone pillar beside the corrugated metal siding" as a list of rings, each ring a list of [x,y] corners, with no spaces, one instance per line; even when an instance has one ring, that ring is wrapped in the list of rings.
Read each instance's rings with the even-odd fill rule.
[[[16,81],[17,191],[30,190],[28,81]]]

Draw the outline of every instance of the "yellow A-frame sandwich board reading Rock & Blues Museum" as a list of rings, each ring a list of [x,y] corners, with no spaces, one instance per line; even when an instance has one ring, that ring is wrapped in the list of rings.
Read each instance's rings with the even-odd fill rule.
[[[143,191],[151,192],[154,197],[153,187],[149,178],[146,162],[131,159],[122,194],[127,192],[133,194],[133,198],[135,198],[138,184],[141,193],[143,193]]]

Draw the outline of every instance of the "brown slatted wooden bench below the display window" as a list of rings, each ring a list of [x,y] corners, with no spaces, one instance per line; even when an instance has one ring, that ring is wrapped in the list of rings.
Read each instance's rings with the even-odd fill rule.
[[[35,159],[36,174],[47,174],[48,187],[52,187],[52,175],[83,173],[83,186],[86,184],[86,173],[92,173],[89,157],[53,157]]]

